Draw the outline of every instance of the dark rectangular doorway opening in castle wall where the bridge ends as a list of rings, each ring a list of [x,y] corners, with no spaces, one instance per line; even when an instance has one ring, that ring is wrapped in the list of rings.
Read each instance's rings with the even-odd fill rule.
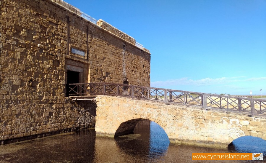
[[[79,83],[80,82],[80,73],[76,71],[69,71],[67,70],[67,97],[69,94],[76,93],[78,88],[75,87],[73,90],[69,88],[69,84]],[[75,85],[72,85],[73,88]],[[71,91],[70,91],[71,90]]]

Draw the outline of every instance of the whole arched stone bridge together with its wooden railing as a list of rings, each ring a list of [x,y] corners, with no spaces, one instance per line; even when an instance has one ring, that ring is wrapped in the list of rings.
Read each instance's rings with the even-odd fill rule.
[[[266,140],[266,100],[111,83],[69,86],[69,97],[97,101],[98,135],[131,133],[149,119],[172,142],[225,146],[245,135]]]

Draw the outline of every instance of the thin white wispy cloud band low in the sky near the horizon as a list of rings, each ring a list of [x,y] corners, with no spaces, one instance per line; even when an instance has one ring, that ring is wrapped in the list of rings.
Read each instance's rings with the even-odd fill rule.
[[[209,86],[209,85],[220,85],[229,84],[239,81],[266,81],[266,77],[258,78],[247,78],[246,76],[235,76],[235,77],[221,77],[221,78],[204,78],[204,79],[189,79],[187,77],[180,79],[172,79],[166,81],[153,81],[151,82],[152,87],[162,87],[162,86],[180,86],[180,85],[193,85],[193,86]]]

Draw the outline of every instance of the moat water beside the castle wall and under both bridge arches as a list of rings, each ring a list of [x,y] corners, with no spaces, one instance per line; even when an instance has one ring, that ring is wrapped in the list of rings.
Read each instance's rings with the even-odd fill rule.
[[[2,145],[0,162],[192,162],[192,153],[202,152],[263,152],[263,161],[266,161],[266,140],[251,136],[241,137],[233,141],[234,146],[230,149],[176,145],[169,142],[158,124],[149,120],[139,122],[131,135],[117,138],[95,135],[95,130],[82,130]]]

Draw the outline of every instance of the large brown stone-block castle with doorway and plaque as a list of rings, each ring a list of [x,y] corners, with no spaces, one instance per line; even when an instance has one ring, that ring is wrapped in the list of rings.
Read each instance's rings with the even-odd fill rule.
[[[150,52],[103,20],[61,0],[1,0],[0,142],[95,126],[95,109],[67,97],[67,84],[150,86]]]

